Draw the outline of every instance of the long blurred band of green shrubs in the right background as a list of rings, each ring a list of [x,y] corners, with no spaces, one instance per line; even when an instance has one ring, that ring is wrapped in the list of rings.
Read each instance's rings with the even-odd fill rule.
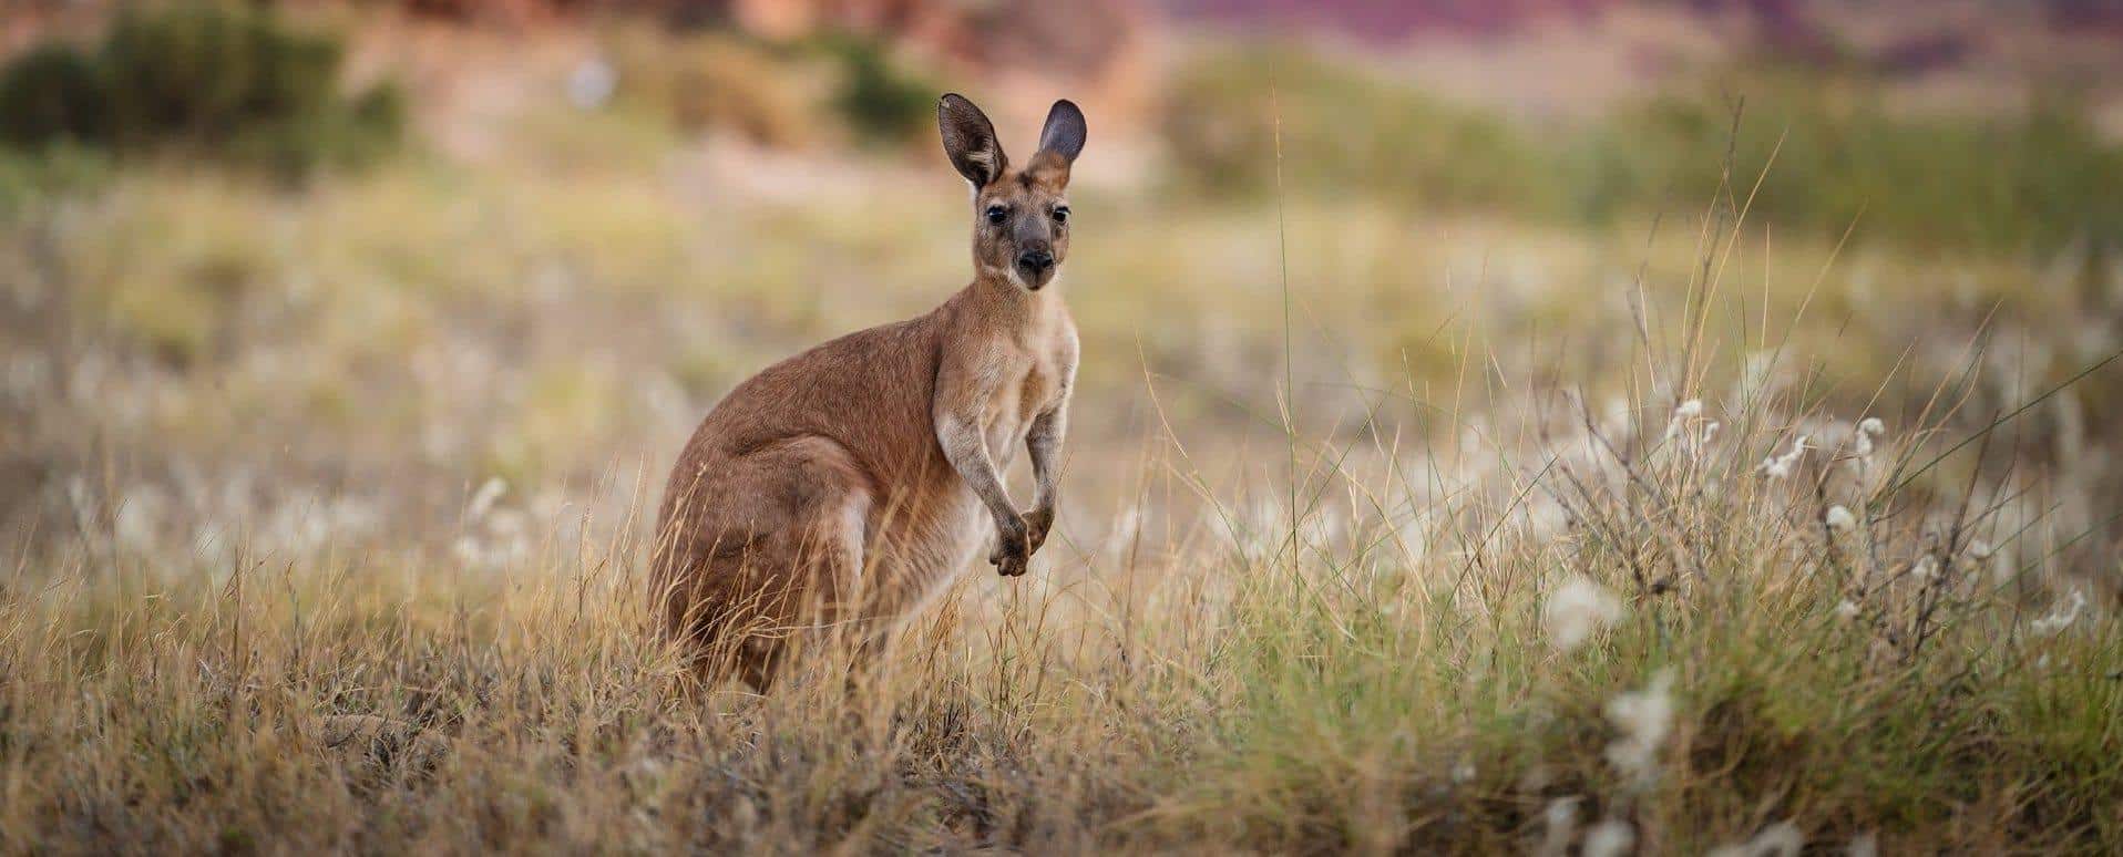
[[[2123,235],[2123,148],[2072,104],[1900,117],[1864,78],[1762,68],[1724,89],[1747,95],[1737,136],[1722,95],[1656,98],[1533,134],[1363,68],[1255,47],[1183,68],[1163,132],[1180,180],[1214,195],[1274,182],[1280,110],[1291,193],[1603,223],[1722,193],[1745,202],[1760,178],[1749,218],[1824,235],[1858,223],[1862,235],[1917,246],[2089,240],[2098,255]]]

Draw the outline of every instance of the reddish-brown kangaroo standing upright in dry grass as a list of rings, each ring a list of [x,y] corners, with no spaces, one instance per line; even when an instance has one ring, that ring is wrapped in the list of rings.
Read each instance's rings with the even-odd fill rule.
[[[957,93],[943,148],[972,182],[972,282],[919,318],[849,333],[730,390],[671,469],[650,583],[664,632],[703,679],[766,692],[792,634],[860,628],[864,649],[979,552],[1023,575],[1047,543],[1076,380],[1068,174],[1083,110],[1055,102],[1013,170]],[[1002,471],[1023,441],[1032,509]]]

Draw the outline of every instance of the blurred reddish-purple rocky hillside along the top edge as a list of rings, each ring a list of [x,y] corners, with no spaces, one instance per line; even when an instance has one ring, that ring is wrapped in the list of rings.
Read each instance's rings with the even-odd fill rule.
[[[732,28],[766,40],[851,32],[983,76],[1157,89],[1168,36],[1312,36],[1395,57],[1425,85],[1478,100],[1582,110],[1590,95],[1698,72],[1705,64],[1796,62],[1926,81],[1932,106],[1996,106],[2015,85],[2089,91],[2117,134],[2115,47],[2123,4],[2108,0],[280,0],[289,8],[395,11],[505,32],[633,17],[667,28]],[[125,2],[17,0],[0,11],[0,51],[51,30],[91,28]],[[1537,81],[1526,81],[1535,76]],[[1590,81],[1586,81],[1590,78]],[[1541,98],[1539,93],[1548,95]]]

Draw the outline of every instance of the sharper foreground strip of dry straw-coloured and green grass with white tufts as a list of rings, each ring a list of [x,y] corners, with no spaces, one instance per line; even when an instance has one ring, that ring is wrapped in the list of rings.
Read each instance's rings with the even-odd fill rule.
[[[1709,418],[1734,428],[1698,450]],[[2115,844],[2115,622],[2017,596],[2049,549],[1987,503],[1883,488],[1917,445],[1824,443],[1775,479],[1754,458],[1785,426],[1743,422],[1620,428],[1626,462],[1592,435],[1369,456],[1416,462],[1371,479],[1314,450],[1295,562],[1274,505],[1121,526],[1025,583],[968,577],[851,689],[828,651],[771,698],[686,694],[643,645],[637,526],[539,520],[490,566],[335,537],[193,564],[85,511],[117,535],[8,583],[0,827],[8,851],[1518,851],[1569,842],[1550,819],[1575,806],[1652,851],[1781,821]],[[1191,486],[1168,450],[1144,499]]]

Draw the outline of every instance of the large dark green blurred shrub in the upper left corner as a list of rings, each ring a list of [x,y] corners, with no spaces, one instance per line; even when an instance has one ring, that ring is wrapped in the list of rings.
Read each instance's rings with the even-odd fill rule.
[[[200,155],[301,174],[397,142],[395,87],[340,89],[344,47],[261,6],[183,2],[119,13],[93,49],[42,45],[0,68],[0,140]]]

